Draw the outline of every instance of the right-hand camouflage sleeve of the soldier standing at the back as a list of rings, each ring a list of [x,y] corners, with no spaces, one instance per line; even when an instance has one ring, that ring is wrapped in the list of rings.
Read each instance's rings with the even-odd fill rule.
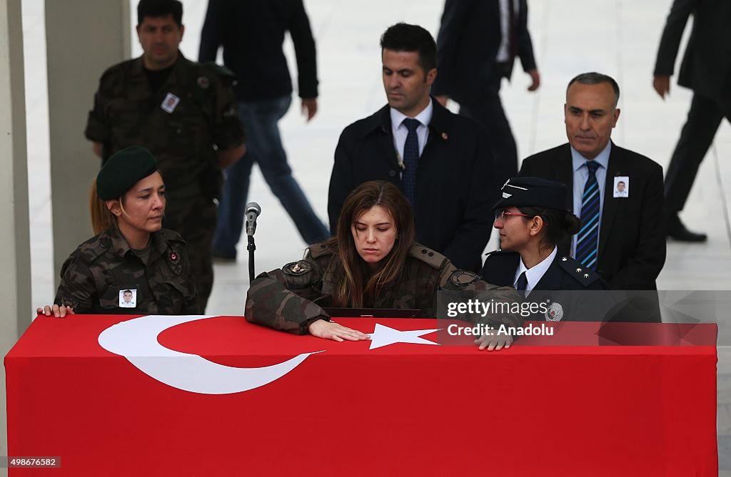
[[[208,71],[211,66],[206,65]],[[219,78],[216,81],[216,95],[213,96],[213,118],[211,118],[211,136],[219,150],[227,150],[243,144],[246,134],[243,124],[238,115],[238,104],[233,95],[231,85],[233,78],[225,72],[222,67],[213,70],[213,74]],[[231,75],[233,75],[231,73]]]

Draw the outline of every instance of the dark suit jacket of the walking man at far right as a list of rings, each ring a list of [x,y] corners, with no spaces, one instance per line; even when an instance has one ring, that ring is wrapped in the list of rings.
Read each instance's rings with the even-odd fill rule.
[[[711,99],[729,94],[731,86],[731,1],[675,0],[667,15],[657,51],[655,75],[673,75],[683,30],[693,14],[693,31],[678,84]]]

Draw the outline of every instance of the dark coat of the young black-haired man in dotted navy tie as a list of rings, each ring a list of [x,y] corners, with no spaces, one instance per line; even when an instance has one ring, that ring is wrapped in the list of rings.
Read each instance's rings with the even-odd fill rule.
[[[429,138],[419,159],[415,191],[417,241],[447,256],[458,268],[480,270],[490,238],[492,206],[501,184],[485,129],[432,99]],[[335,151],[327,213],[336,232],[346,197],[368,180],[401,188],[388,106],[344,129]]]

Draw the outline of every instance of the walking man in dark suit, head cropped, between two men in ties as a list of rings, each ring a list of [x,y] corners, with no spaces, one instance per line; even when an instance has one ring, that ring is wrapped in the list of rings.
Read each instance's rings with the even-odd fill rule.
[[[499,182],[518,172],[518,150],[500,101],[500,83],[510,80],[515,58],[531,76],[528,91],[540,85],[528,31],[526,0],[447,0],[436,42],[439,76],[436,99],[455,99],[460,114],[488,130],[498,160]]]

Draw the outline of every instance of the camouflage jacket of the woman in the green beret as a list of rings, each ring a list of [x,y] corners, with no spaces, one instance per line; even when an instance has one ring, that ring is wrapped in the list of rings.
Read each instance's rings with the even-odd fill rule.
[[[121,307],[125,290],[134,291],[133,308]],[[53,302],[75,313],[200,313],[185,242],[167,229],[151,234],[146,266],[116,227],[86,240],[61,267]]]

